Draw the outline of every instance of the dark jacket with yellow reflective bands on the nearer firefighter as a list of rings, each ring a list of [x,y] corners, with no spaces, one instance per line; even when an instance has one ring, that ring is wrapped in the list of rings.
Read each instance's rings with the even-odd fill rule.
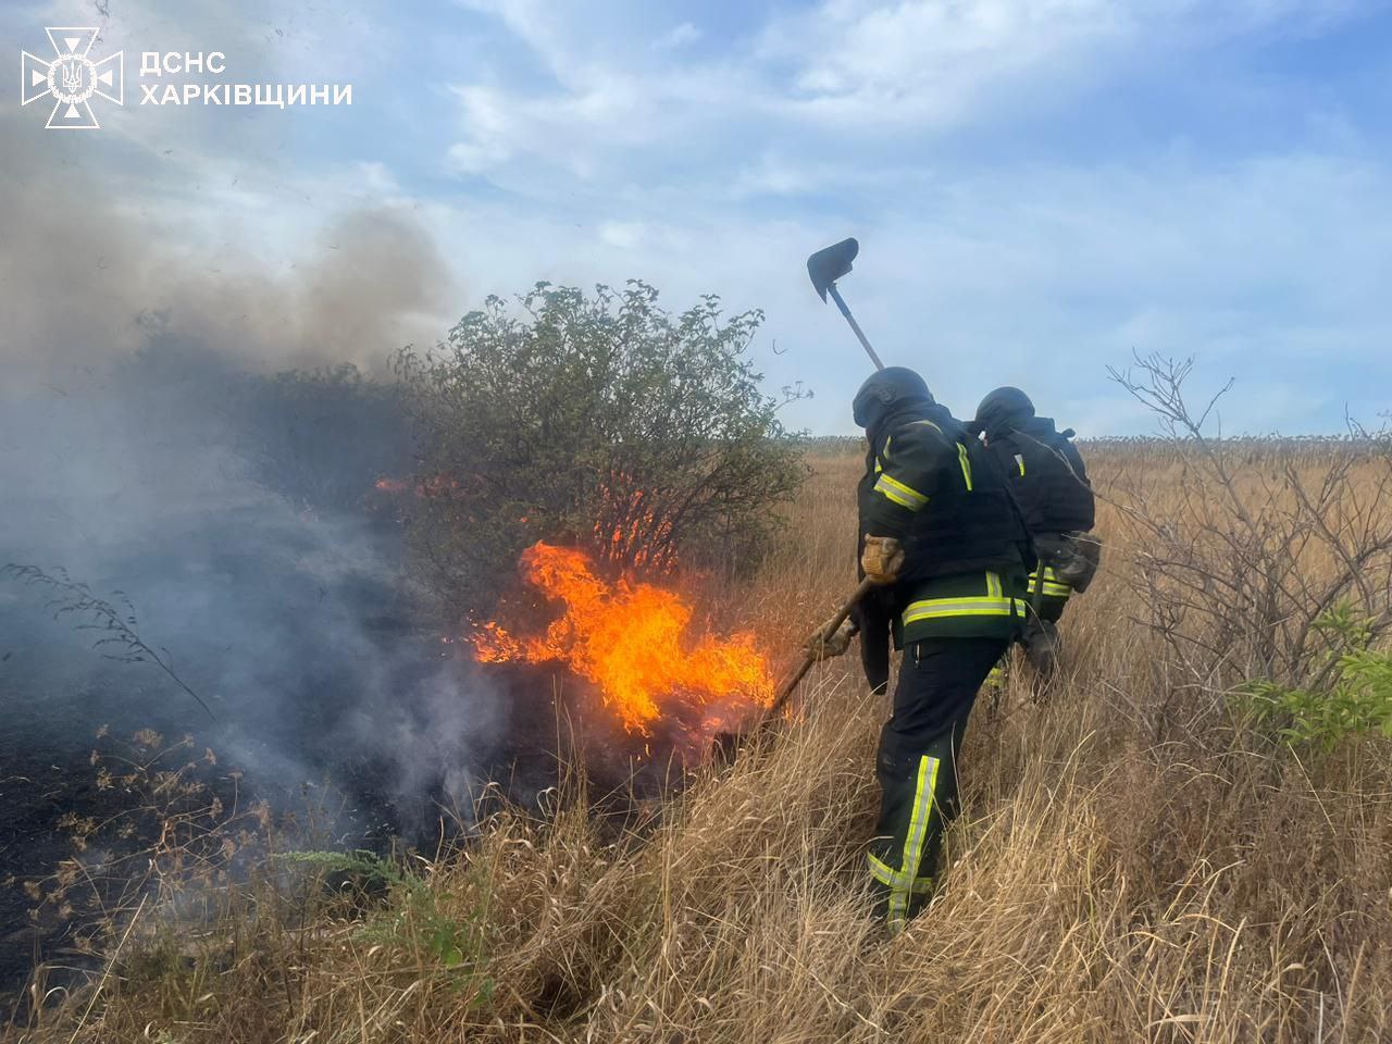
[[[1015,635],[1025,619],[1033,555],[1005,475],[937,404],[905,402],[867,436],[862,544],[873,535],[892,536],[905,547],[889,596],[895,644]]]

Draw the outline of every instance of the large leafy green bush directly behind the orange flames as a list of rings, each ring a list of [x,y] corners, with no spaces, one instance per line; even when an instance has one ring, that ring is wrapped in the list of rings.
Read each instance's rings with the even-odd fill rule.
[[[805,477],[748,358],[763,313],[715,296],[671,315],[657,291],[537,284],[489,298],[398,373],[422,455],[413,547],[468,607],[544,539],[640,571],[757,557]]]

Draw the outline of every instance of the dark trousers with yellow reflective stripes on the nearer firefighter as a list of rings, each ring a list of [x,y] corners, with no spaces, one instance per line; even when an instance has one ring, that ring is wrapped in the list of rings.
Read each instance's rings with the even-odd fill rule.
[[[942,831],[958,812],[956,753],[976,693],[1009,643],[935,638],[903,650],[894,714],[880,731],[880,821],[870,842],[877,909],[891,931],[927,901]]]

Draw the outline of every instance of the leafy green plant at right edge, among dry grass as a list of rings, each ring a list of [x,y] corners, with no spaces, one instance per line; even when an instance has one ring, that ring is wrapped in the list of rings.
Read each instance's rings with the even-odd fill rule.
[[[1270,679],[1239,689],[1258,724],[1289,743],[1325,753],[1349,736],[1392,738],[1392,653],[1373,649],[1374,628],[1350,603],[1339,603],[1315,621],[1328,642],[1324,670],[1307,686]]]

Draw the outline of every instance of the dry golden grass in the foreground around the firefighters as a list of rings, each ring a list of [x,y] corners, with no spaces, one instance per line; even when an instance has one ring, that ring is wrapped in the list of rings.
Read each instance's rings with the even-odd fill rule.
[[[771,649],[853,582],[859,459],[816,465],[784,548],[720,592]],[[1108,451],[1094,483],[1154,468],[1164,511],[1165,466]],[[285,913],[264,880],[259,915],[227,901],[237,916],[196,938],[146,913],[99,990],[11,1038],[1392,1040],[1388,745],[1303,757],[1214,714],[1144,622],[1114,500],[1062,677],[1037,704],[1013,670],[979,704],[942,888],[894,940],[862,891],[885,707],[846,657],[809,678],[782,742],[707,770],[642,839],[569,795],[384,899]]]

